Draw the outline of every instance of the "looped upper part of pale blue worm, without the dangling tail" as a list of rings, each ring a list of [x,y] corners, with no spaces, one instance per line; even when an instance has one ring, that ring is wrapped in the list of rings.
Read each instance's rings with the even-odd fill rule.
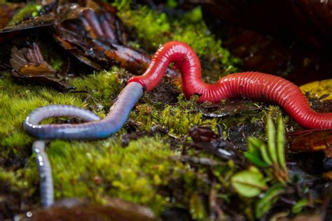
[[[45,106],[30,113],[23,124],[23,128],[30,136],[39,139],[62,140],[95,140],[111,136],[123,127],[130,111],[136,102],[143,96],[141,84],[129,83],[118,95],[118,99],[111,106],[109,114],[103,119],[94,113],[75,106]],[[39,124],[49,117],[71,116],[82,120],[95,121],[82,124]]]

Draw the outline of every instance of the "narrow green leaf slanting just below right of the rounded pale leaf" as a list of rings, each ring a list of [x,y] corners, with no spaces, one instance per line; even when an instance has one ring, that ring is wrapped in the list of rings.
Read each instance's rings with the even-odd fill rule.
[[[279,199],[279,195],[284,192],[284,187],[282,185],[275,185],[265,192],[262,199],[258,200],[255,208],[256,218],[261,218],[264,213],[266,213],[273,204]]]

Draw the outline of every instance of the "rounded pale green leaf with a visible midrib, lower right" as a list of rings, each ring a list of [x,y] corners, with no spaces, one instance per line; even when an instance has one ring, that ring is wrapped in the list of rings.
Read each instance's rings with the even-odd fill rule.
[[[263,174],[255,166],[235,173],[231,183],[236,192],[244,197],[256,197],[263,190],[268,189]]]

